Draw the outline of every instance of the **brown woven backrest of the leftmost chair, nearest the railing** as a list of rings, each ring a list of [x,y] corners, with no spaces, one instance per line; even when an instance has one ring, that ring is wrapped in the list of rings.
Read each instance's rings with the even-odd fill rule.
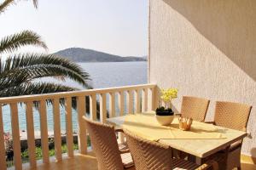
[[[114,128],[83,117],[90,135],[90,142],[96,154],[98,168],[101,170],[124,169]]]

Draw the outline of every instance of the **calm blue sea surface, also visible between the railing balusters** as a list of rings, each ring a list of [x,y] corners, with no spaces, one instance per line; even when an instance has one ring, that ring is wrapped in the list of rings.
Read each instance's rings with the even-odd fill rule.
[[[79,63],[90,74],[90,84],[94,88],[110,88],[147,83],[147,62],[113,62],[113,63]],[[53,82],[53,80],[47,80]],[[81,88],[79,84],[67,81],[65,85]],[[26,130],[26,113],[24,106],[18,105],[20,130]],[[65,131],[65,111],[61,110],[61,131]],[[39,114],[34,109],[34,127],[40,130]],[[47,107],[48,130],[53,131],[52,106]],[[9,105],[3,107],[3,128],[11,130]],[[73,130],[77,129],[77,112],[73,110]]]

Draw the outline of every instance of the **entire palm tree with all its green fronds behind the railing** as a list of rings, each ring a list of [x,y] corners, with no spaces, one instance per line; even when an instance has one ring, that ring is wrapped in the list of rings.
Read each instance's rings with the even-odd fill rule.
[[[12,4],[15,4],[15,0],[3,1],[0,14]],[[33,4],[37,8],[38,1],[33,0]],[[59,81],[69,78],[84,88],[91,88],[87,83],[89,74],[68,59],[55,54],[13,54],[27,45],[47,49],[42,38],[33,31],[21,31],[0,40],[0,97],[77,90],[61,83],[42,82],[40,79],[43,77],[53,77]],[[10,56],[3,59],[4,54]]]

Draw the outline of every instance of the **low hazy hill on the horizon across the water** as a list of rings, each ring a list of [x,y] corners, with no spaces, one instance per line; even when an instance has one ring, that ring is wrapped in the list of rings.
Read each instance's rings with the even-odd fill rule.
[[[125,62],[125,61],[147,61],[145,57],[121,57],[119,55],[102,53],[92,49],[85,48],[67,48],[56,52],[66,59],[74,62]]]

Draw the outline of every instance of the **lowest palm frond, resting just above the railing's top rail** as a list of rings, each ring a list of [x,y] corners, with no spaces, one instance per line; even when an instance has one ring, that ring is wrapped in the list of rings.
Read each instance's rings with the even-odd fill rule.
[[[22,83],[11,88],[4,88],[0,90],[0,97],[32,95],[32,94],[49,94],[57,92],[67,92],[78,90],[78,88],[71,88],[61,84],[50,82],[30,82]]]

